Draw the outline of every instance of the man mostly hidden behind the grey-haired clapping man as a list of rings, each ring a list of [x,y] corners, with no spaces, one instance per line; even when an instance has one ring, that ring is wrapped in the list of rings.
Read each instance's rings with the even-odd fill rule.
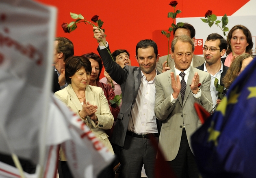
[[[193,42],[195,42],[195,28],[189,23],[184,23],[182,27],[174,28],[173,33],[174,33],[174,38],[180,35],[187,35],[193,40]],[[167,67],[167,64],[166,64],[167,56],[168,55],[159,57],[159,60],[156,63],[156,69],[161,73],[174,67],[174,59],[171,57],[171,55],[169,55],[168,67]],[[193,55],[191,66],[196,68],[204,64],[204,62],[205,62],[204,57]]]

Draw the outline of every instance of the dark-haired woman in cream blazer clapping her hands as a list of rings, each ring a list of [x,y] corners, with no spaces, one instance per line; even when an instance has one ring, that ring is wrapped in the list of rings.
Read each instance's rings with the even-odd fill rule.
[[[90,74],[89,59],[81,56],[69,57],[65,64],[65,78],[69,85],[54,93],[54,96],[78,114],[95,136],[114,154],[108,135],[104,131],[104,129],[111,129],[114,118],[102,89],[88,85]],[[60,160],[61,164],[63,161],[66,164],[62,149]],[[67,176],[63,175],[63,177]]]

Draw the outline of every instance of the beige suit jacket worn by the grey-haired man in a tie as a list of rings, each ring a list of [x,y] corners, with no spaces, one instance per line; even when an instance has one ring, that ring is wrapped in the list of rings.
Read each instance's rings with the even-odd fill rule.
[[[173,160],[178,154],[183,122],[190,148],[192,148],[190,136],[201,125],[193,104],[195,102],[199,103],[208,112],[212,110],[213,106],[210,95],[210,74],[192,66],[189,72],[183,104],[180,94],[178,95],[177,101],[172,104],[170,95],[173,93],[173,89],[171,88],[170,72],[174,72],[175,74],[174,68],[156,76],[156,102],[154,108],[156,117],[163,121],[159,146],[163,150],[167,161]],[[189,86],[192,83],[195,72],[198,72],[200,83],[202,84],[200,86],[202,95],[199,98],[193,96],[194,94]]]

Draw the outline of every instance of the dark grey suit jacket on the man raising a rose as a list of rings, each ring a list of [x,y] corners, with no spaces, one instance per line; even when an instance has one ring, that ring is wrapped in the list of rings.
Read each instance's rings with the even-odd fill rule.
[[[108,72],[113,81],[121,86],[123,104],[117,116],[111,142],[124,146],[132,104],[135,102],[141,84],[141,69],[135,66],[121,68],[111,59],[106,49],[100,50],[98,47],[97,50],[102,57],[106,72]]]

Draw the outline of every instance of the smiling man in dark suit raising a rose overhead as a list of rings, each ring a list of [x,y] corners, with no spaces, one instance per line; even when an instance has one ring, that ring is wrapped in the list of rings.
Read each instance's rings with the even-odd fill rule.
[[[106,72],[121,85],[123,104],[115,124],[112,143],[120,146],[122,178],[141,178],[144,164],[148,178],[154,178],[156,150],[151,145],[150,136],[158,141],[158,130],[154,114],[155,85],[154,78],[158,73],[156,62],[159,54],[157,45],[152,40],[141,40],[136,46],[136,59],[139,67],[124,66],[121,68],[103,46],[105,42],[102,30],[93,27],[94,38],[100,44],[98,52]]]

